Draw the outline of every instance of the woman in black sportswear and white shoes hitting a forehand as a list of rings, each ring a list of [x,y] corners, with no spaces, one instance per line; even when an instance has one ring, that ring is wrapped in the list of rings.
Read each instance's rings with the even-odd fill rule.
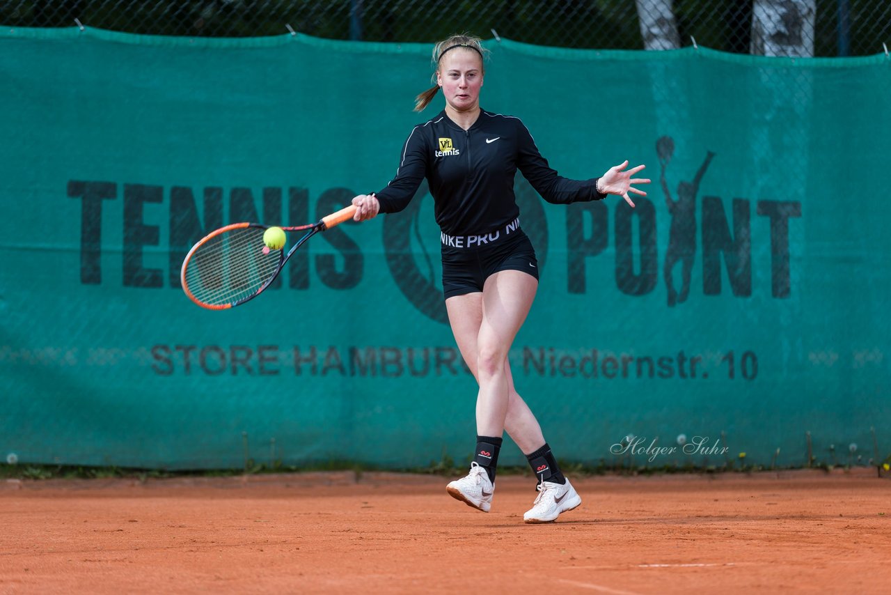
[[[538,496],[523,516],[547,523],[582,500],[560,472],[532,411],[513,384],[508,352],[538,287],[538,262],[519,223],[513,193],[517,169],[548,202],[596,201],[607,194],[646,195],[635,184],[639,165],[628,161],[601,178],[562,178],[538,152],[523,122],[479,107],[487,50],[478,37],[453,36],[433,49],[436,84],[416,98],[423,110],[437,92],[446,107],[412,129],[396,178],[378,193],[353,199],[356,221],[402,211],[427,178],[442,231],[443,289],[455,341],[479,385],[477,447],[470,473],[447,492],[487,512],[495,493],[495,468],[503,433],[526,455],[538,479]]]

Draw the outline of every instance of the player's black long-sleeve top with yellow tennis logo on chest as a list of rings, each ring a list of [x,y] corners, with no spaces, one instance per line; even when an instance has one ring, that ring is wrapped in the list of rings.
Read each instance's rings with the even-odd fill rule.
[[[443,111],[408,136],[396,178],[376,193],[380,212],[405,209],[427,178],[444,233],[488,233],[519,216],[513,194],[517,169],[547,202],[568,204],[606,196],[597,192],[598,178],[562,178],[538,152],[519,118],[482,111],[464,130]]]

